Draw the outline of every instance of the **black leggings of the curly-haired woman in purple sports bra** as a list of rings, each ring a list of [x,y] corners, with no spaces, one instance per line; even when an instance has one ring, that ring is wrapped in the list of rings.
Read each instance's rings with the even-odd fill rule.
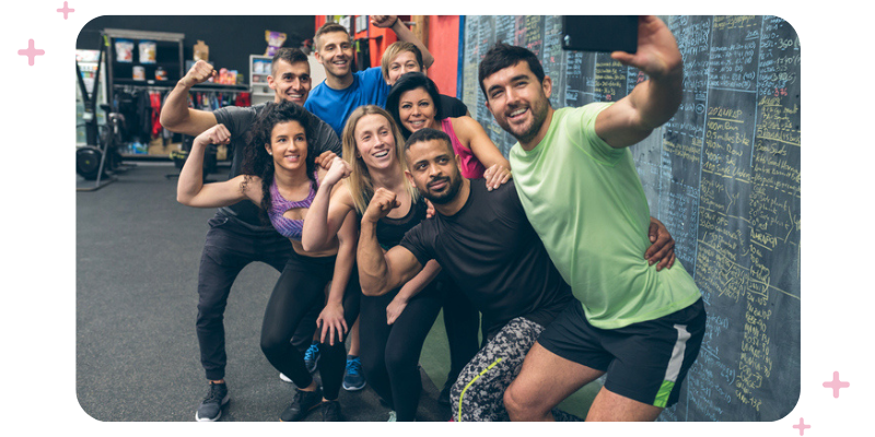
[[[305,319],[314,306],[325,306],[325,285],[331,281],[336,257],[310,258],[292,252],[285,268],[273,287],[273,293],[265,310],[261,324],[261,351],[268,362],[277,370],[288,376],[299,388],[313,382],[313,377],[304,364],[304,355],[289,343],[299,324]],[[358,269],[352,267],[352,274],[343,293],[343,318],[348,327],[352,327],[359,316]],[[310,335],[316,330],[313,324]],[[300,331],[299,331],[300,332]],[[346,339],[346,336],[345,336]],[[326,338],[327,340],[327,338]],[[340,392],[343,379],[347,350],[343,342],[335,341],[319,344],[319,375],[322,376],[323,395],[335,400]]]

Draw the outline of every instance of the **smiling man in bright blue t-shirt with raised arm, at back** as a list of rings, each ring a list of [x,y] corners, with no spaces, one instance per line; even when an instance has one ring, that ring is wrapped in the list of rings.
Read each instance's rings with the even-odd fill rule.
[[[377,27],[392,28],[399,40],[415,44],[422,51],[425,67],[434,62],[429,50],[395,15],[372,15],[371,23]],[[349,115],[363,105],[386,106],[389,85],[383,79],[381,67],[352,72],[352,38],[347,28],[338,23],[326,23],[313,38],[316,60],[325,67],[325,81],[310,93],[304,108],[325,120],[342,138]]]

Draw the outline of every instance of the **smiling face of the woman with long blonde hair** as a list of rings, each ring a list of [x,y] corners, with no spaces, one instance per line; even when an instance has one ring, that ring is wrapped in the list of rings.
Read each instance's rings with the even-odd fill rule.
[[[388,168],[397,164],[395,132],[386,117],[369,114],[359,119],[354,129],[357,157],[370,169]]]

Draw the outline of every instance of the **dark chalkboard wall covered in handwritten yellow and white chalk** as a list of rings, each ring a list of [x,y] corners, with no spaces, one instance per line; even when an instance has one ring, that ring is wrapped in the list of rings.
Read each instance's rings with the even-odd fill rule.
[[[684,57],[675,117],[634,145],[651,215],[708,310],[680,401],[663,421],[775,421],[800,394],[800,44],[777,16],[663,16]],[[560,16],[466,16],[462,98],[508,155],[477,66],[495,42],[537,54],[555,108],[616,102],[646,76],[563,51]]]

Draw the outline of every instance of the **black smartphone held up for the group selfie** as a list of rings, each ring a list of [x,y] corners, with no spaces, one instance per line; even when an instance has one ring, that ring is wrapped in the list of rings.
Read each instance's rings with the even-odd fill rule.
[[[638,50],[638,15],[562,15],[562,49]]]

